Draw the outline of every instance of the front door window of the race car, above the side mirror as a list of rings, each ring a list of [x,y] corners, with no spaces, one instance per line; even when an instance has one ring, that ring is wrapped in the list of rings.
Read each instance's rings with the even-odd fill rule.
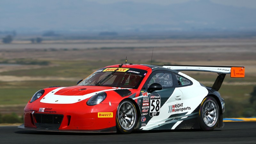
[[[164,72],[156,73],[149,80],[148,87],[149,87],[149,85],[151,85],[153,83],[161,84],[163,87],[172,87],[173,86],[172,74],[164,73]]]

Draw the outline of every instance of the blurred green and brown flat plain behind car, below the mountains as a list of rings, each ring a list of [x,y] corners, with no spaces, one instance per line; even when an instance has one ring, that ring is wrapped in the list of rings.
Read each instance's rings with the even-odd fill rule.
[[[87,41],[90,44],[98,44]],[[123,40],[104,40],[105,47],[54,48],[47,43],[34,44],[34,48],[24,48],[17,43],[9,44],[9,49],[0,49],[0,113],[15,113],[22,116],[23,108],[33,94],[49,86],[72,86],[98,68],[125,63],[150,64],[154,47],[152,64],[180,65],[216,65],[244,66],[245,78],[226,76],[220,89],[226,101],[224,117],[251,117],[255,113],[256,87],[256,39],[216,38],[216,39],[158,39],[140,40],[151,46],[131,43],[129,47],[115,47]],[[72,41],[70,41],[72,43]],[[52,42],[52,44],[55,44]],[[58,45],[59,42],[56,42]],[[76,43],[75,43],[76,44]],[[127,43],[125,43],[127,44]],[[138,44],[139,46],[134,46]],[[163,46],[154,46],[160,45]],[[188,45],[190,44],[190,45]],[[178,46],[177,46],[178,45]],[[217,45],[217,46],[216,46]],[[44,48],[41,48],[41,47]],[[113,47],[111,47],[113,46]],[[39,48],[38,48],[39,47]],[[187,72],[206,86],[212,86],[217,74],[204,72]],[[253,95],[254,94],[254,95]]]

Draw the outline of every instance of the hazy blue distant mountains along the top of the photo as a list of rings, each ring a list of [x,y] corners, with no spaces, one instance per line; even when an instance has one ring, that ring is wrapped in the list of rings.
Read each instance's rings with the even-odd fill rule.
[[[256,9],[189,1],[167,6],[85,0],[1,0],[0,31],[256,30]]]

